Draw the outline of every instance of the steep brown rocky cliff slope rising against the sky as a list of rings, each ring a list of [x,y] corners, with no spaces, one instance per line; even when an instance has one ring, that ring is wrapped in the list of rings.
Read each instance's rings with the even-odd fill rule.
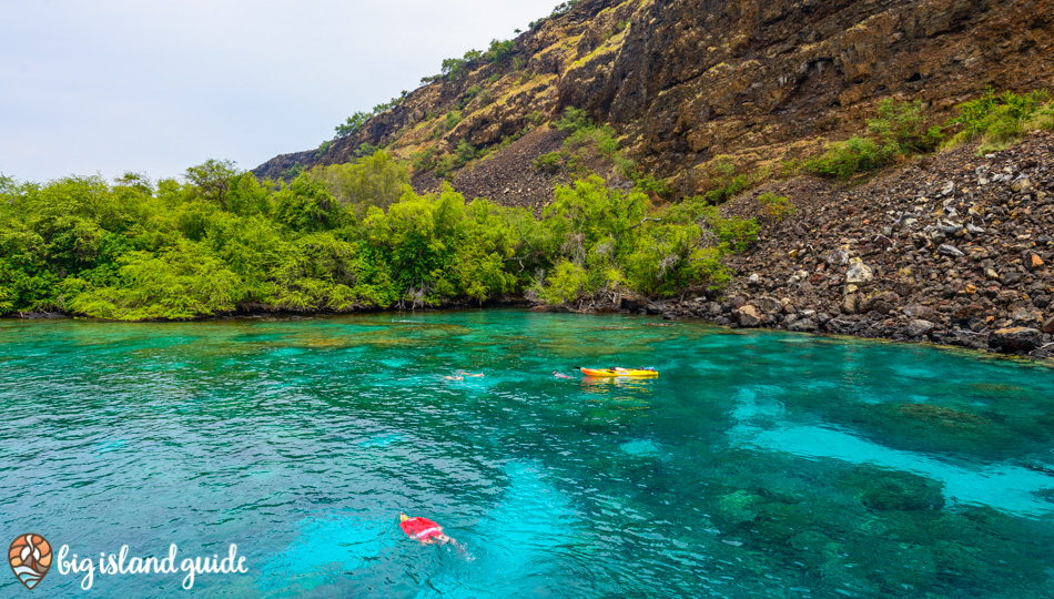
[[[943,119],[987,87],[1026,91],[1052,74],[1054,0],[582,0],[499,61],[254,172],[343,163],[369,144],[417,158],[414,185],[428,191],[439,180],[422,158],[450,160],[464,142],[483,155],[445,173],[456,190],[537,209],[560,181],[533,165],[561,139],[547,123],[577,106],[688,195],[710,186],[716,156],[746,172],[811,153],[861,130],[885,98]]]

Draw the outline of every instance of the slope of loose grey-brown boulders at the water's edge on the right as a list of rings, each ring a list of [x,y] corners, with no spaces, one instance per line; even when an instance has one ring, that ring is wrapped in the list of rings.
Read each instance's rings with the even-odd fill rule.
[[[758,244],[729,265],[723,297],[635,311],[772,327],[1054,356],[1054,132],[987,152],[965,145],[844,189],[769,183],[722,206],[757,214],[764,193],[795,199],[761,217]]]

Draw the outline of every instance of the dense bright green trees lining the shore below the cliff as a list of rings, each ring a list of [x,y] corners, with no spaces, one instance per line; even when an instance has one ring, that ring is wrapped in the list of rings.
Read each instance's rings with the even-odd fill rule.
[[[259,182],[230,162],[156,184],[0,177],[0,313],[112,319],[239,309],[351,311],[526,293],[551,303],[723,284],[720,257],[757,235],[693,199],[651,211],[599,177],[544,217],[418,195],[384,152]]]

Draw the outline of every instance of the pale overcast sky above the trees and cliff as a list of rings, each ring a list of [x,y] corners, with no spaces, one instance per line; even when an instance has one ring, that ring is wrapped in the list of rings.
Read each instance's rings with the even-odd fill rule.
[[[317,146],[557,0],[3,0],[0,173],[158,180]]]

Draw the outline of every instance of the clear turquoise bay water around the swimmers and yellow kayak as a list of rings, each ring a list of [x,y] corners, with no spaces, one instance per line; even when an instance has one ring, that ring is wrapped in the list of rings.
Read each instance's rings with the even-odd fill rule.
[[[660,324],[2,321],[2,530],[94,556],[236,542],[250,572],[194,585],[220,597],[1054,597],[1050,367]],[[617,364],[661,375],[551,376]]]

